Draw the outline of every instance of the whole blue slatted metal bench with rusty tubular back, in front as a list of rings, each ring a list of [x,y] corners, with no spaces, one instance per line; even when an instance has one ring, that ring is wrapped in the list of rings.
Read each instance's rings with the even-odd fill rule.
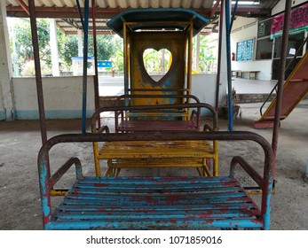
[[[179,139],[259,143],[265,151],[264,174],[258,174],[241,157],[233,157],[230,175],[219,177],[88,177],[83,176],[76,158],[68,159],[51,175],[49,151],[58,143]],[[272,163],[270,144],[249,132],[55,136],[44,143],[38,155],[43,229],[269,229]],[[260,205],[236,179],[237,165],[261,187]],[[76,168],[76,181],[63,201],[51,209],[51,190],[72,166]]]

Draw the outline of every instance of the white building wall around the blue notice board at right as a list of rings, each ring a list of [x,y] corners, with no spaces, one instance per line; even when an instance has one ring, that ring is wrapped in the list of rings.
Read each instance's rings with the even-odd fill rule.
[[[247,25],[247,27],[245,27]],[[234,20],[233,32],[231,34],[231,52],[236,54],[236,43],[254,38],[254,48],[257,45],[257,21],[251,18],[238,17]],[[254,55],[256,52],[254,52]],[[236,57],[236,56],[235,56]],[[272,78],[272,59],[252,61],[232,61],[233,70],[253,70],[260,71],[257,80],[269,81]]]

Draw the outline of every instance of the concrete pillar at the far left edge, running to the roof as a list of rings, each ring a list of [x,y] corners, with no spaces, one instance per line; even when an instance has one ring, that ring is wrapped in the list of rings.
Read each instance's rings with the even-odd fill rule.
[[[5,1],[0,1],[0,119],[14,119],[12,58]]]

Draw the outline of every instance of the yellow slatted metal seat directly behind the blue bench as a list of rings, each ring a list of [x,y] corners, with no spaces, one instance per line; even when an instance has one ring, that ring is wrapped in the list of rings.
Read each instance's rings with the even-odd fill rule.
[[[206,159],[214,160],[217,175],[217,151],[204,140],[107,142],[96,158],[108,160],[105,176],[138,167],[195,167],[200,175],[209,175]]]

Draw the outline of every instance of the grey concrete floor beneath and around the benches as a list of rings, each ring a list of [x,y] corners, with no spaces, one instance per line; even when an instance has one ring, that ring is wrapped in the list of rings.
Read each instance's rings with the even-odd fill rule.
[[[234,121],[234,130],[255,131],[271,143],[272,129],[252,128],[253,120],[258,118],[259,105],[241,105],[242,118]],[[308,229],[308,190],[304,178],[308,160],[307,111],[308,100],[304,100],[287,120],[281,122],[275,172],[276,193],[272,200],[272,229]],[[220,130],[226,130],[226,120],[220,120],[219,127]],[[80,133],[81,120],[48,120],[47,131],[49,138],[64,133]],[[42,229],[36,168],[36,156],[41,146],[39,122],[0,122],[0,137],[0,229]],[[263,159],[261,153],[250,144],[219,143],[220,174],[228,171],[233,155],[252,159],[259,167]],[[82,160],[84,174],[94,174],[91,143],[65,144],[52,148],[51,167],[55,170],[71,156]],[[152,171],[123,170],[122,174],[196,175],[196,172],[193,169],[184,171],[165,168]],[[60,184],[70,187],[74,176],[74,171],[69,172]],[[53,200],[57,202],[59,198]]]

